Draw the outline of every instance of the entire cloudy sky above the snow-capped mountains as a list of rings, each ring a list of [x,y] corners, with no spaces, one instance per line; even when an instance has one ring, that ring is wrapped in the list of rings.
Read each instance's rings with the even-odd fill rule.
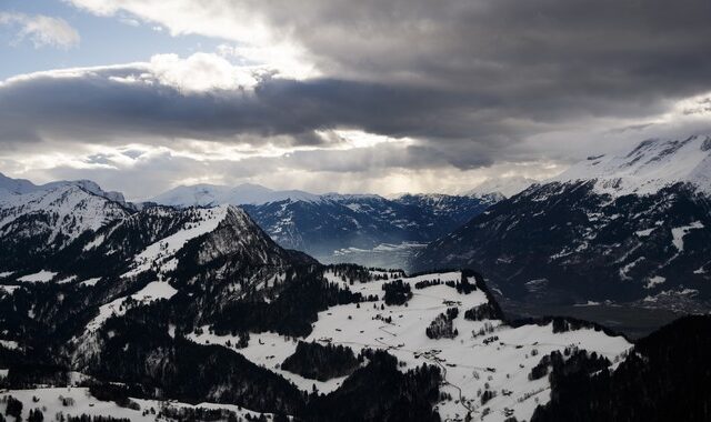
[[[0,0],[0,172],[457,193],[711,133],[708,0]]]

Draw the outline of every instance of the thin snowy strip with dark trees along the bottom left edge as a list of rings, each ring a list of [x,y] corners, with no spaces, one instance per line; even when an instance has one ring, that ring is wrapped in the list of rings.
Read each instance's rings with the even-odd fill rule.
[[[29,390],[8,390],[3,392],[3,395],[12,395],[13,398],[22,402],[22,419],[27,420],[31,409],[46,409],[43,410],[44,420],[53,420],[58,413],[63,413],[64,416],[88,414],[91,416],[113,416],[124,418],[134,422],[154,422],[156,415],[148,412],[143,415],[146,410],[153,408],[156,412],[160,411],[163,406],[170,408],[206,408],[206,409],[224,409],[237,413],[238,416],[247,418],[259,416],[260,413],[252,412],[250,410],[231,405],[231,404],[216,404],[216,403],[200,403],[188,404],[180,402],[167,402],[159,400],[143,400],[134,399],[131,401],[139,404],[139,410],[132,410],[128,408],[121,408],[114,402],[99,401],[94,399],[87,388],[67,386],[67,388],[47,388],[47,389],[29,389]],[[34,402],[32,399],[38,398],[39,401]],[[73,404],[64,406],[60,398],[70,398],[73,400]],[[0,404],[0,412],[4,413],[6,404]],[[269,419],[273,419],[273,415],[266,414]]]

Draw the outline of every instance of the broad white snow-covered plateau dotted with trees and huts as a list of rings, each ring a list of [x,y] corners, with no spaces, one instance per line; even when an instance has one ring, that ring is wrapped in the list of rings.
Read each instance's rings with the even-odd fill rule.
[[[327,278],[347,284],[336,274],[327,274]],[[385,349],[407,363],[404,370],[423,363],[435,364],[442,369],[445,379],[445,385],[441,390],[452,396],[452,400],[437,405],[442,419],[463,419],[471,411],[475,420],[483,419],[484,412],[489,412],[487,421],[503,421],[508,415],[528,420],[538,404],[550,400],[548,378],[534,381],[528,379],[531,368],[543,355],[552,351],[562,352],[572,345],[598,352],[614,362],[631,348],[622,336],[612,338],[590,329],[553,333],[552,323],[512,329],[501,321],[464,320],[464,311],[487,302],[484,293],[475,290],[470,294],[460,294],[444,284],[414,289],[415,282],[433,279],[442,282],[459,281],[461,273],[404,279],[412,287],[413,298],[407,307],[384,307],[384,310],[381,310],[383,281],[349,285],[352,291],[364,295],[377,294],[381,301],[364,302],[360,308],[356,304],[339,305],[319,313],[313,332],[304,341],[343,344],[352,348],[356,353],[363,348]],[[459,308],[459,316],[454,320],[459,335],[454,339],[429,339],[424,333],[425,328],[437,315],[454,307]],[[385,322],[383,319],[387,318],[392,318],[392,322]],[[474,335],[484,325],[493,331]],[[498,339],[490,341],[492,336]],[[213,344],[224,344],[228,340],[234,343],[237,340],[209,334],[207,330],[191,339]],[[251,334],[249,346],[238,352],[254,363],[284,375],[306,391],[316,385],[319,391],[328,392],[342,382],[342,379],[336,379],[322,383],[276,369],[294,350],[294,341],[273,333],[261,333]],[[497,395],[481,405],[480,394],[484,390],[493,391]]]

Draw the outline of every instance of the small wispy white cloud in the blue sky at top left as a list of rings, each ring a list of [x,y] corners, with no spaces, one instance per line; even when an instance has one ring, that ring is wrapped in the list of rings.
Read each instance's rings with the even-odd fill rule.
[[[29,39],[36,49],[57,47],[69,49],[79,46],[79,32],[61,18],[43,14],[0,12],[0,26],[17,26],[17,41]]]

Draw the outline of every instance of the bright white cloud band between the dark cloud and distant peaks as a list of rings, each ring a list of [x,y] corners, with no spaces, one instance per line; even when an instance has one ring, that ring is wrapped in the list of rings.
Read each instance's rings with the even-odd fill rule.
[[[398,143],[381,144],[377,149],[312,150],[247,159],[232,159],[229,152],[206,159],[183,149],[186,147],[62,142],[63,153],[43,148],[29,154],[30,160],[28,151],[0,154],[0,168],[6,174],[36,182],[88,178],[106,189],[121,190],[133,200],[191,183],[233,185],[252,182],[276,189],[387,194],[459,192],[491,175],[540,174],[538,167],[511,163],[461,171],[444,160],[418,157],[418,149]],[[412,168],[412,160],[418,168]]]

